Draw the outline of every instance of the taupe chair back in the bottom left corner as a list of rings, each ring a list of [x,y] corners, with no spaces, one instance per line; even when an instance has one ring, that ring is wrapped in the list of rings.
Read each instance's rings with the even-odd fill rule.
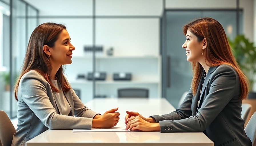
[[[0,123],[0,146],[9,146],[13,141],[16,130],[8,115],[2,110],[0,110]]]

